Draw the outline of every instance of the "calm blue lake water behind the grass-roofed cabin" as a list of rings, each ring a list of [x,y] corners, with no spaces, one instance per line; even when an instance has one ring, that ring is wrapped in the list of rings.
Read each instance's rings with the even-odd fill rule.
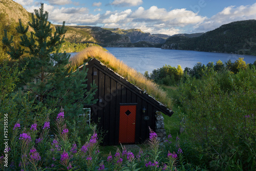
[[[160,48],[105,48],[116,58],[122,60],[126,65],[134,68],[140,73],[161,68],[165,64],[172,67],[178,65],[184,70],[185,67],[193,68],[197,62],[207,64],[216,63],[217,60],[226,62],[229,59],[234,62],[239,57],[243,57],[246,63],[253,63],[256,56],[210,53],[196,51],[163,50]],[[73,54],[72,54],[73,55]]]

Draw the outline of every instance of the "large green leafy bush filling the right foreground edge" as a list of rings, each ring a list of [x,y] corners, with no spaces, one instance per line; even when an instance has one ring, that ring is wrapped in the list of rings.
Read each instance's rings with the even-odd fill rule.
[[[186,135],[207,167],[255,169],[255,78],[255,68],[235,75],[211,69],[180,83]]]

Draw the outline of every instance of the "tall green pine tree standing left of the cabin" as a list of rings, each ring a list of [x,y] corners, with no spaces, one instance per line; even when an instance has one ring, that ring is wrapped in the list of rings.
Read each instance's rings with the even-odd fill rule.
[[[65,22],[54,31],[48,22],[44,4],[41,4],[39,10],[35,9],[34,13],[31,13],[32,21],[27,27],[19,19],[16,30],[22,36],[18,48],[12,46],[13,37],[9,39],[7,32],[3,43],[9,47],[11,58],[19,61],[20,67],[28,64],[21,78],[24,90],[30,91],[38,102],[47,104],[48,108],[58,111],[62,105],[70,117],[75,117],[82,113],[84,105],[95,103],[93,95],[96,87],[91,85],[91,90],[87,92],[87,72],[71,71],[67,67],[70,55],[58,53],[67,31]],[[29,27],[32,31],[28,33]]]

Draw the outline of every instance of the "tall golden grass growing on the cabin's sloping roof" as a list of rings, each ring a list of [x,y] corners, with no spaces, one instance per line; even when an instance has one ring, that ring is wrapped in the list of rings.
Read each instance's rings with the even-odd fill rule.
[[[84,62],[89,61],[91,58],[100,60],[104,65],[108,66],[116,73],[135,84],[141,90],[146,90],[146,93],[155,97],[158,101],[165,104],[167,108],[172,107],[171,100],[160,90],[154,82],[146,79],[142,74],[138,73],[131,67],[125,65],[121,60],[117,59],[114,55],[104,51],[102,47],[89,47],[70,58],[71,66],[77,69],[83,65]]]

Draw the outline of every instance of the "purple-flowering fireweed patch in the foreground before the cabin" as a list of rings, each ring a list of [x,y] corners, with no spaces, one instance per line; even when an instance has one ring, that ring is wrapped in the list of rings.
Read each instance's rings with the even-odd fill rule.
[[[64,113],[55,120],[55,137],[50,138],[50,120],[39,129],[37,123],[21,128],[17,122],[13,127],[8,146],[8,167],[4,166],[4,155],[0,157],[2,170],[185,170],[193,168],[184,163],[183,152],[177,141],[168,153],[162,153],[156,133],[150,130],[148,151],[133,154],[125,147],[111,152],[107,158],[100,158],[97,133],[89,135],[83,145],[69,138]],[[167,140],[165,147],[170,147]],[[172,153],[171,153],[172,152]],[[189,167],[188,167],[189,166]]]

